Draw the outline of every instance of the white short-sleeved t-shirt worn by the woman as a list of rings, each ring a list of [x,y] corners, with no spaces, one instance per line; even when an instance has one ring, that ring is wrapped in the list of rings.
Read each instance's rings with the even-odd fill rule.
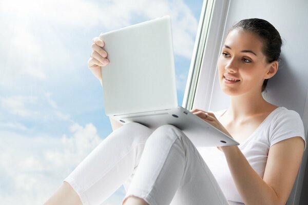
[[[219,119],[223,113],[224,111],[220,111],[214,114]],[[269,148],[281,140],[295,136],[300,136],[305,140],[303,122],[299,114],[279,107],[269,114],[251,136],[238,147],[252,168],[263,178]],[[226,199],[243,203],[223,152],[216,147],[197,149],[215,176]],[[232,204],[232,202],[229,203]]]

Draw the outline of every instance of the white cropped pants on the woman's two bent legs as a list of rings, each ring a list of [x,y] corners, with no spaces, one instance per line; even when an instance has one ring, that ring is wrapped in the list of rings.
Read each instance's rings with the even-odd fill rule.
[[[228,204],[196,147],[172,125],[154,132],[136,122],[122,126],[65,181],[83,204],[102,203],[122,184],[125,199],[133,195],[150,205]]]

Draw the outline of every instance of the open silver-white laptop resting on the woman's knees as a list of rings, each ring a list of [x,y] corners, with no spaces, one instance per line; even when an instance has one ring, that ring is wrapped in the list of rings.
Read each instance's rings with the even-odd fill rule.
[[[109,65],[102,67],[105,114],[121,124],[181,129],[196,147],[239,145],[178,106],[171,20],[148,20],[100,35]]]

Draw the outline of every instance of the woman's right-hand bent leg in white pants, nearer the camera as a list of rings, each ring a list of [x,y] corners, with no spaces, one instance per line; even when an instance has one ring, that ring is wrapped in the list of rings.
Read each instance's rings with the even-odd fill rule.
[[[228,204],[199,152],[178,128],[164,125],[148,138],[127,194],[150,205]]]

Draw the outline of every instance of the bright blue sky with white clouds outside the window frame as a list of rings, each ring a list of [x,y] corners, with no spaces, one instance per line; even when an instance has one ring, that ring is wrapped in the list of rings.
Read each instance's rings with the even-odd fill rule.
[[[100,33],[170,15],[182,104],[202,1],[2,0],[0,201],[42,204],[112,132],[87,68]],[[120,204],[124,189],[104,205]]]

